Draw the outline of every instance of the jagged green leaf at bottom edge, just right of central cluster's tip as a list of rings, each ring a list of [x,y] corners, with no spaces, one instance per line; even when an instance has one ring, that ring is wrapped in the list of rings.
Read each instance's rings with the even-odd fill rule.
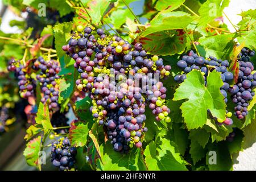
[[[170,140],[162,138],[162,143],[156,147],[154,141],[146,146],[144,155],[148,170],[186,171],[185,161],[175,152]]]

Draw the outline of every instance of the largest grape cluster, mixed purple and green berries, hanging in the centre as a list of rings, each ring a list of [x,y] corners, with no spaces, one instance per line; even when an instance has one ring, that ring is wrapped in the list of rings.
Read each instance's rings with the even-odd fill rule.
[[[114,150],[127,152],[134,145],[142,146],[146,105],[158,121],[171,121],[167,89],[159,81],[170,75],[171,67],[149,55],[141,43],[133,46],[102,29],[95,34],[90,27],[78,26],[63,50],[76,61],[77,89],[89,93],[90,111],[96,122],[105,125]]]

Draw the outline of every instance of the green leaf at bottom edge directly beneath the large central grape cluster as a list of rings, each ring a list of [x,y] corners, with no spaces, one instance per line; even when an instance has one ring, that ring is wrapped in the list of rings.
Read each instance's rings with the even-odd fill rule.
[[[101,159],[98,160],[97,167],[102,171],[145,171],[143,150],[133,148],[128,154],[120,154],[113,150],[112,144],[102,144],[100,146]]]

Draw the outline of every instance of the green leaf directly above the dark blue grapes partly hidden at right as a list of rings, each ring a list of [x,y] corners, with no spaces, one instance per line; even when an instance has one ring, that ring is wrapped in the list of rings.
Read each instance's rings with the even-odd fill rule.
[[[234,47],[233,34],[221,34],[210,36],[208,38],[200,38],[199,44],[204,47],[206,53],[200,52],[201,56],[214,56],[217,59],[229,59],[229,54]]]

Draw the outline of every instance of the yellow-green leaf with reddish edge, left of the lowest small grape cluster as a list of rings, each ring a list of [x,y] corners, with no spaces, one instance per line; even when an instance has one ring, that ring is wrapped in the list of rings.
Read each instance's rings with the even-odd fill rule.
[[[34,138],[27,143],[23,155],[26,158],[27,164],[29,166],[38,166],[38,158],[40,151],[41,137]]]

